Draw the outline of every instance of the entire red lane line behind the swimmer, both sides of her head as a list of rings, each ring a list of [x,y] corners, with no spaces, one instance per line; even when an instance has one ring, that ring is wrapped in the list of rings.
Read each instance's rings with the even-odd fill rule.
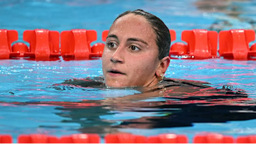
[[[107,33],[102,32],[102,41]],[[170,29],[171,42],[176,40],[175,30]],[[219,42],[218,42],[219,38]],[[102,56],[103,43],[91,43],[97,40],[95,30],[72,29],[61,33],[46,29],[25,30],[23,40],[29,43],[13,42],[18,40],[17,30],[0,29],[0,59],[95,59]],[[223,30],[219,34],[205,29],[184,30],[181,33],[184,43],[174,43],[170,47],[171,58],[209,59],[223,56],[225,59],[256,60],[254,30]],[[219,46],[219,49],[218,49]],[[219,53],[219,55],[218,55]]]

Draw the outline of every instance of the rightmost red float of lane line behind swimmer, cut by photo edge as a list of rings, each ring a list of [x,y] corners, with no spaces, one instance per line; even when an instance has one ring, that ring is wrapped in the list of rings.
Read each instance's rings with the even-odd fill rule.
[[[219,33],[219,54],[227,59],[248,60],[256,56],[256,45],[249,48],[249,43],[255,40],[254,30],[232,29]]]

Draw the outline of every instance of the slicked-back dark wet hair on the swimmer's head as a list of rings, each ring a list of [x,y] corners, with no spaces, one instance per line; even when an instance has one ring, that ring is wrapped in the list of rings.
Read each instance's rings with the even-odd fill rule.
[[[146,18],[147,22],[150,23],[152,29],[156,34],[156,44],[158,47],[158,58],[159,60],[163,59],[165,56],[169,56],[170,45],[171,45],[171,36],[168,27],[164,22],[156,17],[154,14],[143,11],[142,9],[137,9],[135,11],[126,11],[120,14],[115,20],[125,16],[126,14],[135,14]]]

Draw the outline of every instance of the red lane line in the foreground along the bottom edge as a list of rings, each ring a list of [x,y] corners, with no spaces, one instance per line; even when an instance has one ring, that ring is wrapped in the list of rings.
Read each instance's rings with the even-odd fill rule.
[[[256,135],[233,136],[219,133],[200,133],[193,137],[193,143],[256,143]],[[12,143],[11,135],[0,135],[0,143]],[[67,136],[50,136],[44,134],[19,135],[17,143],[100,143],[101,137],[94,133],[81,133]],[[186,135],[174,133],[156,136],[132,135],[130,133],[107,134],[104,143],[188,143]]]

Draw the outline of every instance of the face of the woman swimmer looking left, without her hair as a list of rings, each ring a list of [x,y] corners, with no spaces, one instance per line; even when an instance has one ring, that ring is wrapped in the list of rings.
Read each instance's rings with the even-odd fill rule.
[[[155,85],[160,65],[156,34],[144,17],[127,14],[112,24],[102,55],[106,86]]]

